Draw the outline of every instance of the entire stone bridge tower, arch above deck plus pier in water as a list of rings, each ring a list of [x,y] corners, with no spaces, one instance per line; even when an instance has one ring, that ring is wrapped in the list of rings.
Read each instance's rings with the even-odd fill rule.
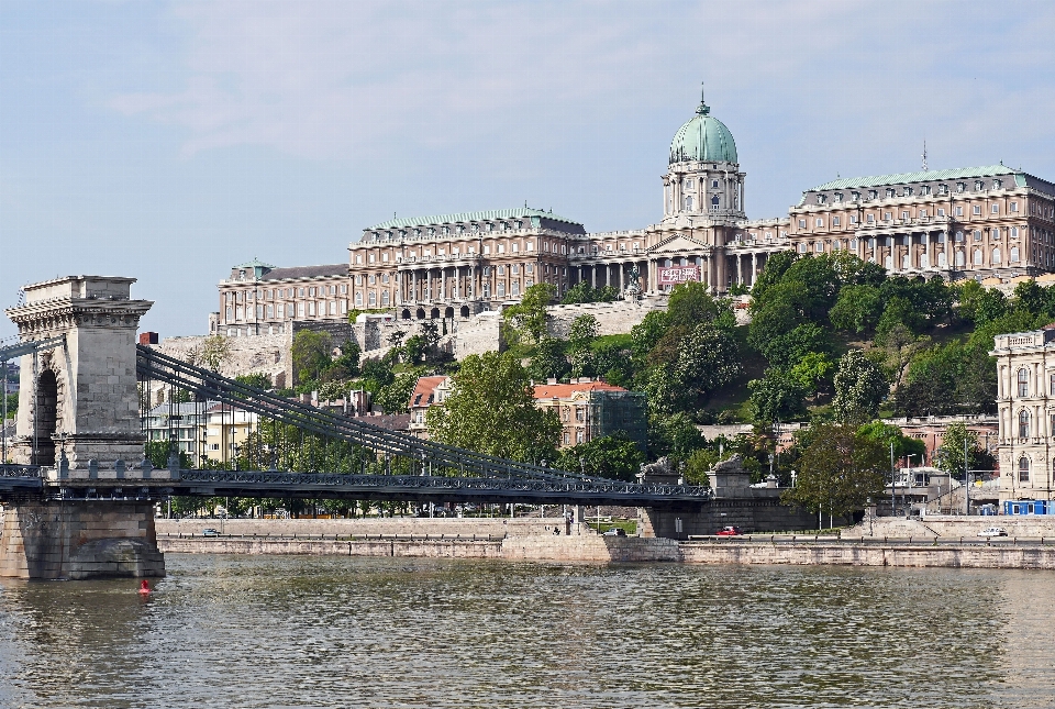
[[[133,283],[56,278],[27,286],[5,311],[23,343],[42,345],[22,355],[9,457],[56,484],[3,500],[0,576],[165,575],[153,502],[130,488],[155,477],[137,467],[145,436],[135,379],[135,333],[153,303],[132,299]],[[90,486],[96,499],[65,494],[64,483]]]

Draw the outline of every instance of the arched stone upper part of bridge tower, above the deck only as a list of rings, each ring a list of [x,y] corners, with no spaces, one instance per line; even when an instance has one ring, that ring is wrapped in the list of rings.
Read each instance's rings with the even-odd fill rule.
[[[135,333],[151,306],[133,300],[135,278],[66,276],[25,287],[7,310],[23,341],[65,336],[65,344],[24,355],[13,461],[71,470],[113,469],[143,458],[145,436],[135,384]]]

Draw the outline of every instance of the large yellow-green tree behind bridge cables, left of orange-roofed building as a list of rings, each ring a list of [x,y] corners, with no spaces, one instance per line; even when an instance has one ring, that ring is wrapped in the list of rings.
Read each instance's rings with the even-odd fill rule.
[[[429,437],[517,461],[554,461],[560,422],[535,408],[528,372],[508,353],[469,355],[451,396],[426,414]]]

